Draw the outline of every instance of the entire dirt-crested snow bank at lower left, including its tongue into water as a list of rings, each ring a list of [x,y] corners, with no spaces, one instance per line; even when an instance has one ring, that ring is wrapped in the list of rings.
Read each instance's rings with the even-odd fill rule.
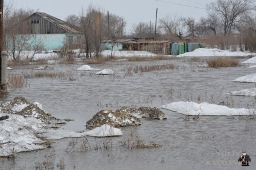
[[[54,118],[38,102],[32,104],[22,97],[16,97],[0,106],[0,157],[12,157],[19,152],[47,148],[51,145],[51,139],[123,134],[121,130],[109,125],[83,133],[59,130],[58,124],[65,124],[65,120]]]

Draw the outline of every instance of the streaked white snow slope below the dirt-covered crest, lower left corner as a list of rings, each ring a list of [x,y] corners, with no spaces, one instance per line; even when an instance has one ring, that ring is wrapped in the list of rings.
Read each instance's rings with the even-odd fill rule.
[[[0,113],[0,116],[7,114]],[[0,157],[14,156],[23,151],[40,150],[51,142],[40,131],[45,124],[36,118],[8,114],[9,118],[0,121]]]

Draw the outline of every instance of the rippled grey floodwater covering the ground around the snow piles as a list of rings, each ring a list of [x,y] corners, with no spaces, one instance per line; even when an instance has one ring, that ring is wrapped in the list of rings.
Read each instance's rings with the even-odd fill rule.
[[[246,59],[241,59],[244,61]],[[133,72],[130,66],[176,66],[173,70]],[[1,103],[15,96],[42,104],[56,118],[75,121],[61,127],[83,131],[86,121],[98,111],[129,107],[161,107],[176,101],[225,103],[234,108],[255,108],[254,97],[226,96],[227,92],[254,88],[254,83],[235,83],[235,78],[253,74],[253,68],[203,68],[203,60],[190,58],[165,61],[115,61],[91,65],[112,69],[115,75],[94,75],[97,71],[75,71],[82,63],[48,65],[54,72],[65,72],[61,78],[28,78],[27,87],[9,88]],[[31,75],[42,72],[31,69],[41,65],[19,66],[9,74]],[[45,66],[45,65],[43,65]],[[54,140],[51,148],[19,153],[16,159],[0,159],[0,169],[256,169],[256,118],[241,116],[185,116],[161,109],[167,120],[142,119],[138,127],[124,127],[120,137],[83,137]],[[136,138],[137,137],[137,138]],[[140,140],[138,140],[140,139]],[[127,142],[156,143],[157,148],[136,148]],[[131,144],[132,145],[132,144]],[[249,167],[237,162],[243,150],[251,156]],[[40,166],[41,169],[42,166]]]

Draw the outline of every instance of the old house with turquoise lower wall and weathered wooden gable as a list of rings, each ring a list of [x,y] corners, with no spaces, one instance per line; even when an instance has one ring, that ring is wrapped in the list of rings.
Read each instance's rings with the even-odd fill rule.
[[[24,20],[27,46],[25,50],[60,50],[68,45],[69,49],[79,48],[82,39],[80,28],[46,13],[33,13]]]

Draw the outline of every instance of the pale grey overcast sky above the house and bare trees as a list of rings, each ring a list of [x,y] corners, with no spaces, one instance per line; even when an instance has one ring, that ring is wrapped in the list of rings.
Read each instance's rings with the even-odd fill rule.
[[[199,20],[206,16],[206,4],[216,0],[4,0],[13,1],[16,8],[34,9],[65,20],[70,14],[79,15],[89,5],[100,7],[107,13],[117,14],[127,23],[126,32],[133,24],[149,22],[155,24],[156,8],[158,19],[167,14],[194,17]]]

